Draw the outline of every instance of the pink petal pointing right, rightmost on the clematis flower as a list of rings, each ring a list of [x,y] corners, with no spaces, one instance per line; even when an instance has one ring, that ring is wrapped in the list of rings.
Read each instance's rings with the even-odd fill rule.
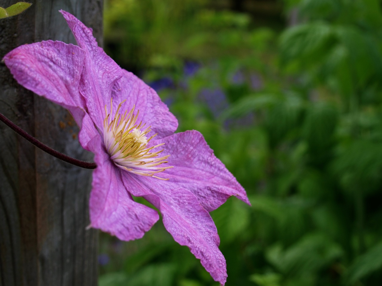
[[[173,188],[183,187],[191,191],[208,212],[218,208],[230,196],[250,205],[244,188],[215,157],[200,132],[176,133],[150,143],[164,143],[160,147],[163,149],[161,154],[170,154],[166,166],[173,168],[159,173],[159,176],[168,178],[166,183]]]

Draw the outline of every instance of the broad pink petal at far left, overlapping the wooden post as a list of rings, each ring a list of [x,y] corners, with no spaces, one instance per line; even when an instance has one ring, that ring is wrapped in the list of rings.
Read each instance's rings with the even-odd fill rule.
[[[68,109],[81,126],[85,100],[78,86],[84,58],[81,48],[49,40],[15,48],[3,60],[19,84]]]

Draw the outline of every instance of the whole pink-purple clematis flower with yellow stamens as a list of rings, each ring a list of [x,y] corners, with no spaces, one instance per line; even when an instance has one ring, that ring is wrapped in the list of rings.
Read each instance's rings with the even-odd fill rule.
[[[71,112],[81,128],[79,142],[95,154],[91,227],[125,241],[141,238],[159,219],[132,195],[144,197],[175,241],[225,284],[226,263],[209,212],[230,196],[249,204],[243,187],[199,132],[174,134],[178,122],[155,91],[108,57],[91,29],[60,12],[78,46],[43,41],[3,60],[19,84]]]

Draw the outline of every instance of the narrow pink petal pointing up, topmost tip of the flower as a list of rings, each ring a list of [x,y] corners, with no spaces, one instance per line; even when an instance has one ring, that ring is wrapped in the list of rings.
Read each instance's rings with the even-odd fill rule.
[[[74,38],[80,48],[85,51],[85,65],[79,90],[86,98],[89,115],[102,130],[105,115],[105,105],[110,105],[112,87],[122,76],[120,66],[112,60],[104,50],[98,47],[93,37],[92,29],[70,13],[61,10]]]

